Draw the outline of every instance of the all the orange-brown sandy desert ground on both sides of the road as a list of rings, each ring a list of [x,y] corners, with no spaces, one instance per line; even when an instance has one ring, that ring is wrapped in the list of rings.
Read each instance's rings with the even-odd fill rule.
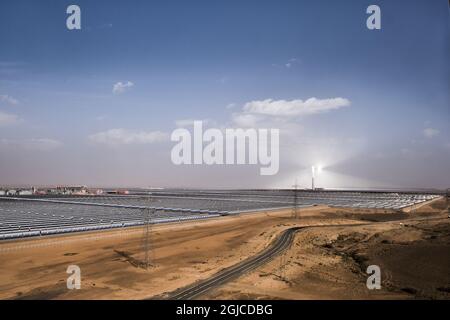
[[[410,213],[315,207],[298,219],[284,210],[158,225],[148,269],[142,228],[2,242],[0,299],[150,298],[255,254],[294,225],[315,227],[299,232],[281,257],[206,298],[448,299],[450,228],[441,202]],[[66,287],[72,264],[81,268],[80,290]],[[366,289],[368,264],[381,267],[382,290]]]

